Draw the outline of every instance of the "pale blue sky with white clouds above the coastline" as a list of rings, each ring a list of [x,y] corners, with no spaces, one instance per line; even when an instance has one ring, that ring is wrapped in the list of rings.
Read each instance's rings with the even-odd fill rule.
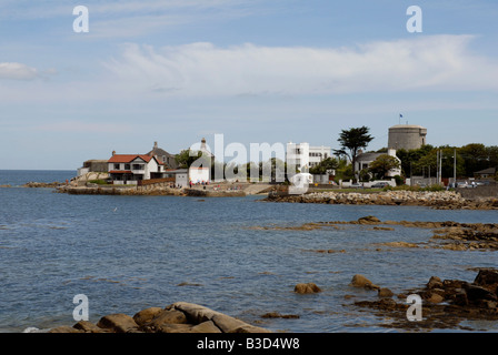
[[[496,0],[1,0],[0,169],[216,134],[338,149],[361,125],[378,150],[399,123],[498,145],[497,19]]]

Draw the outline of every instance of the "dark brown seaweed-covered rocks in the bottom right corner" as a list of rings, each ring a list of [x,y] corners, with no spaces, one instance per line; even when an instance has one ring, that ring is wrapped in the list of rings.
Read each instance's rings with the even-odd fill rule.
[[[498,272],[481,268],[472,282],[441,280],[432,276],[421,288],[406,290],[395,295],[390,290],[371,283],[362,275],[355,275],[351,285],[377,292],[376,301],[357,301],[355,306],[369,308],[379,317],[388,317],[388,328],[432,331],[460,328],[474,331],[462,321],[498,321]],[[421,320],[408,321],[410,303],[407,296],[416,294],[421,298]],[[398,298],[398,302],[395,300]]]

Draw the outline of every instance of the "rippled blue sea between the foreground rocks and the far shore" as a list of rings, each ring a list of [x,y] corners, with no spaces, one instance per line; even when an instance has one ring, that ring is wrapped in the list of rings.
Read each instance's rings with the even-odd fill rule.
[[[272,331],[389,332],[395,329],[382,326],[389,320],[352,305],[376,298],[376,293],[348,286],[355,274],[399,293],[424,286],[432,275],[472,281],[474,267],[497,266],[496,252],[379,250],[385,242],[428,242],[430,230],[255,229],[366,215],[496,223],[496,211],[267,203],[261,196],[68,195],[19,187],[74,174],[0,171],[0,185],[12,185],[0,189],[0,332],[72,325],[77,294],[88,296],[91,322],[185,301]],[[302,282],[323,292],[295,294],[293,286]],[[269,312],[299,318],[261,318]],[[498,322],[464,324],[498,331]]]

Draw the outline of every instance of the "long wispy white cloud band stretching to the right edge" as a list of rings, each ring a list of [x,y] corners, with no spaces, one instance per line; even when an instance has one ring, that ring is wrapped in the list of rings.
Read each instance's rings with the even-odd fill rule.
[[[123,84],[176,95],[498,89],[498,63],[471,53],[471,40],[427,36],[356,48],[128,44],[104,65]]]

